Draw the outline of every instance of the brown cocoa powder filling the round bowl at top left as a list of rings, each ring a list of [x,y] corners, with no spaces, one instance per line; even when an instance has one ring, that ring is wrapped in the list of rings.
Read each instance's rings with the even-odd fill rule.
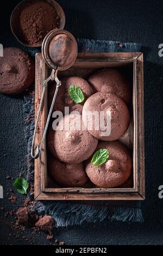
[[[59,28],[57,11],[40,0],[27,1],[21,7],[17,23],[19,38],[24,44],[39,45],[52,29]]]

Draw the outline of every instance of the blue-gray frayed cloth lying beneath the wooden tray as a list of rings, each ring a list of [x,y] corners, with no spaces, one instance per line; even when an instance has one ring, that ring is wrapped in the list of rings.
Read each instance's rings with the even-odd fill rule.
[[[141,45],[114,41],[78,39],[78,52],[140,52]],[[26,50],[26,49],[24,49]],[[28,52],[35,55],[37,50]],[[34,132],[34,90],[24,95],[24,116],[27,139],[27,179],[34,182],[34,161],[30,156]],[[30,197],[30,194],[29,194]],[[81,225],[83,222],[95,223],[109,219],[110,221],[143,222],[140,202],[107,202],[107,201],[36,201],[34,211],[51,215],[58,227]]]

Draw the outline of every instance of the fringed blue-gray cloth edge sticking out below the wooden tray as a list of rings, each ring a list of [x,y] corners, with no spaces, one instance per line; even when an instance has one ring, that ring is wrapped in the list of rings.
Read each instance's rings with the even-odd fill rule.
[[[95,223],[104,220],[121,222],[143,222],[142,211],[128,206],[97,206],[71,203],[35,202],[33,210],[39,214],[51,215],[56,227]]]

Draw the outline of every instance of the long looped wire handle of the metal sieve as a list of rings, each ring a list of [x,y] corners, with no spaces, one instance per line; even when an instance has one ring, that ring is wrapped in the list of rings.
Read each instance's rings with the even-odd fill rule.
[[[37,126],[39,124],[41,109],[42,109],[42,105],[43,105],[43,99],[44,99],[45,92],[46,92],[46,89],[47,89],[47,83],[50,80],[55,80],[55,82],[56,82],[55,93],[54,93],[54,96],[53,96],[53,101],[52,101],[51,108],[50,108],[49,113],[48,113],[48,117],[47,117],[47,121],[46,121],[46,125],[45,125],[45,130],[43,131],[41,144],[40,145],[35,145],[36,130],[37,130]],[[46,137],[46,132],[47,132],[49,120],[51,118],[54,102],[55,102],[55,99],[57,97],[57,93],[58,93],[58,90],[59,90],[60,86],[61,86],[61,81],[59,81],[59,79],[57,77],[57,70],[53,69],[52,73],[51,73],[51,76],[49,76],[45,81],[43,81],[43,90],[42,90],[42,95],[41,95],[41,101],[40,101],[39,111],[37,113],[37,118],[36,118],[36,122],[35,122],[35,130],[34,130],[34,135],[33,135],[33,140],[32,140],[31,156],[32,156],[33,159],[37,159],[39,157],[40,153],[41,153],[41,150],[42,150],[42,147],[43,147],[43,142],[45,141],[45,137]]]

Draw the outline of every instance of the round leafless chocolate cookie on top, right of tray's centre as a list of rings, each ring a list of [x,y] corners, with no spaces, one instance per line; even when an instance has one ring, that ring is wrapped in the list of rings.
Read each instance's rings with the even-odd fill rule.
[[[97,113],[96,123],[95,121],[91,123],[93,120],[91,117],[87,118],[89,113]],[[102,141],[115,141],[120,138],[127,131],[130,123],[126,103],[114,94],[91,95],[84,103],[82,117],[91,135]],[[91,127],[90,124],[92,124]]]

